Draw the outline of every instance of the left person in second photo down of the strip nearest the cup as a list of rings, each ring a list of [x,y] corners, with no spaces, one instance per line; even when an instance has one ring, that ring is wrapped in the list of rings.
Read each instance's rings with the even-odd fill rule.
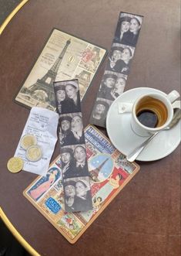
[[[119,72],[119,62],[122,56],[122,47],[113,46],[112,47],[112,55],[109,57],[107,62],[106,70],[111,70],[114,72]]]

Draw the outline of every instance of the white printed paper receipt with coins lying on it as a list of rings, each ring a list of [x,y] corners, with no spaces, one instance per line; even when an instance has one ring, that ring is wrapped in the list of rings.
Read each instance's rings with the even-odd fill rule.
[[[24,171],[33,172],[41,176],[46,175],[55,148],[55,142],[57,141],[58,121],[59,114],[45,108],[32,108],[15,151],[15,156],[24,161]],[[28,148],[22,147],[21,142],[25,135],[35,136],[35,144],[37,148],[41,149],[39,151],[35,149],[28,151]],[[29,155],[30,152],[31,155]],[[38,157],[37,154],[41,155],[41,157]]]

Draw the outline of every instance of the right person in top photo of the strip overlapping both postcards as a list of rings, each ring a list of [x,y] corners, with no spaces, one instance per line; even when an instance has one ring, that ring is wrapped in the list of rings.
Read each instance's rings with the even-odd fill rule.
[[[80,112],[81,104],[78,84],[75,81],[69,81],[68,84],[65,85],[65,92],[70,100],[66,106],[69,113]]]

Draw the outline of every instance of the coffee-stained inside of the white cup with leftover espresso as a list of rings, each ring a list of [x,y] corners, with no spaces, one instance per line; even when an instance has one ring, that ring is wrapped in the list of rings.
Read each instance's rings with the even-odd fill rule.
[[[136,104],[136,118],[148,128],[159,128],[166,123],[168,111],[163,101],[146,96]]]

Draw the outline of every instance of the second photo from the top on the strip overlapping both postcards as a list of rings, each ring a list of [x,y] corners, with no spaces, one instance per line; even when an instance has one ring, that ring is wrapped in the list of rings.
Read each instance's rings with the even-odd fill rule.
[[[85,143],[81,112],[59,116],[59,143],[61,146]]]

